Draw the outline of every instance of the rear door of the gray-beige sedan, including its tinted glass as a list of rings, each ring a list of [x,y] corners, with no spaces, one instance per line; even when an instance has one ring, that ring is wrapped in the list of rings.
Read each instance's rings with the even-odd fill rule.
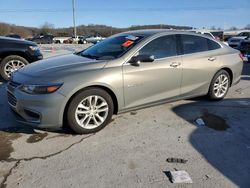
[[[208,92],[218,69],[220,44],[196,35],[179,35],[182,44],[183,78],[181,96],[190,97]]]

